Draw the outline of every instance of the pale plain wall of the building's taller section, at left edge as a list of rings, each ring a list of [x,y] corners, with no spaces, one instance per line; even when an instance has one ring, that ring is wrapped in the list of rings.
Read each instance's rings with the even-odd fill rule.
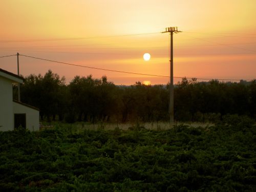
[[[12,81],[0,76],[0,131],[13,130]]]

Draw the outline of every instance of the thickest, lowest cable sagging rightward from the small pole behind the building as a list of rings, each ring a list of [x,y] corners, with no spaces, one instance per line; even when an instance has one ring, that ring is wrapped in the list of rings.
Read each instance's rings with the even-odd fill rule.
[[[61,61],[56,61],[56,60],[50,60],[50,59],[45,59],[45,58],[39,58],[39,57],[33,57],[29,55],[23,55],[19,54],[19,56],[25,56],[25,57],[30,57],[34,59],[39,59],[39,60],[46,60],[46,61],[51,61],[51,62],[56,62],[64,65],[70,65],[70,66],[76,66],[76,67],[83,67],[83,68],[89,68],[89,69],[96,69],[96,70],[103,70],[103,71],[112,71],[112,72],[118,72],[118,73],[128,73],[128,74],[135,74],[135,75],[145,75],[145,76],[155,76],[155,77],[169,77],[166,75],[154,75],[154,74],[144,74],[144,73],[133,73],[133,72],[127,72],[127,71],[118,71],[118,70],[110,70],[110,69],[103,69],[103,68],[95,68],[95,67],[89,67],[89,66],[81,66],[81,65],[76,65],[73,63],[68,63],[68,62],[61,62]],[[184,77],[175,77],[174,78],[184,78]],[[187,79],[194,79],[195,77],[185,77]],[[217,78],[196,78],[198,80],[222,80],[222,81],[240,81],[241,79],[217,79]],[[252,81],[252,79],[242,79],[244,81]]]

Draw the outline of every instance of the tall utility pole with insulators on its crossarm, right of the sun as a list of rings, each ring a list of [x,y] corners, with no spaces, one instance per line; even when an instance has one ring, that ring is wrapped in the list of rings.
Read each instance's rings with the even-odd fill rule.
[[[178,27],[167,27],[162,33],[169,33],[170,35],[170,103],[169,103],[169,114],[170,114],[170,125],[174,123],[174,52],[173,52],[173,34],[179,33]]]

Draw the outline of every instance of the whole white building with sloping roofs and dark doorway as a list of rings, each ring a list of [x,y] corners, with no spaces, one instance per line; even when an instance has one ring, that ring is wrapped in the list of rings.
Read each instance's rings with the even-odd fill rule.
[[[14,127],[39,130],[39,110],[28,104],[13,101],[12,83],[23,83],[23,78],[0,69],[0,131]]]

